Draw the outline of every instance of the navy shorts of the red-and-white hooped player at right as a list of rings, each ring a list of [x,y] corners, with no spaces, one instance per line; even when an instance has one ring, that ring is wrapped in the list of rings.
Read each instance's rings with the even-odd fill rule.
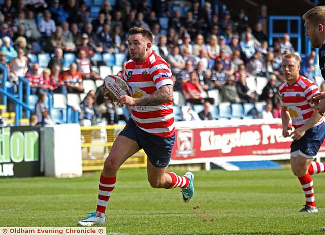
[[[315,157],[324,139],[325,123],[310,128],[298,141],[291,144],[291,157]]]

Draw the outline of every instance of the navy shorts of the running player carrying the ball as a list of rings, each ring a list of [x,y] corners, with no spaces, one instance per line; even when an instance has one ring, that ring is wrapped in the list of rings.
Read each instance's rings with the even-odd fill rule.
[[[167,138],[152,135],[140,129],[130,118],[119,135],[137,142],[140,149],[144,150],[155,167],[163,168],[168,166],[174,146],[175,134]]]

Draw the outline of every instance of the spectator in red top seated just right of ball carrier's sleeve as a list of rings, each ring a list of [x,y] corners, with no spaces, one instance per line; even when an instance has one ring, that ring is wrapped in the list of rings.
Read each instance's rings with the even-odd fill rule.
[[[193,105],[198,105],[203,103],[201,93],[203,88],[198,80],[197,73],[195,71],[190,72],[190,79],[185,83],[183,87],[183,94],[185,96],[186,102]]]

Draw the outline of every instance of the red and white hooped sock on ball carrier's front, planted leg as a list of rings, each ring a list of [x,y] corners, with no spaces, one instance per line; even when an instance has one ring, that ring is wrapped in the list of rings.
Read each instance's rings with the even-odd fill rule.
[[[115,187],[116,176],[114,177],[104,177],[101,174],[100,184],[98,190],[98,202],[97,202],[97,215],[104,216],[107,207],[108,200],[110,199],[111,192]]]

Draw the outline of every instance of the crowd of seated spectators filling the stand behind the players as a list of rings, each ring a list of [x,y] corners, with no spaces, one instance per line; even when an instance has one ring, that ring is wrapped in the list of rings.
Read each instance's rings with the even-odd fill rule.
[[[92,57],[96,53],[127,55],[128,29],[139,26],[153,32],[154,50],[170,64],[175,91],[192,105],[204,104],[204,111],[196,118],[211,119],[207,110],[215,100],[207,95],[210,90],[218,90],[222,101],[230,103],[264,100],[268,111],[263,116],[271,116],[277,109],[277,87],[284,80],[282,56],[295,51],[289,35],[268,45],[262,25],[249,27],[253,22],[244,10],[216,14],[208,1],[204,6],[200,1],[151,1],[149,5],[147,0],[124,0],[116,1],[115,6],[104,1],[97,14],[92,13],[93,4],[87,3],[5,0],[0,13],[0,63],[7,67],[9,81],[17,83],[18,76],[26,77],[32,94],[83,93],[84,79],[102,79],[93,66],[105,62],[93,62]],[[43,72],[27,57],[41,52],[52,55]],[[65,53],[76,55],[66,71]],[[301,73],[312,80],[315,56],[312,52],[302,58]],[[123,68],[118,74],[123,74]],[[262,94],[247,85],[249,76],[269,80]],[[186,107],[185,112],[189,111]],[[114,123],[115,118],[110,119]]]

